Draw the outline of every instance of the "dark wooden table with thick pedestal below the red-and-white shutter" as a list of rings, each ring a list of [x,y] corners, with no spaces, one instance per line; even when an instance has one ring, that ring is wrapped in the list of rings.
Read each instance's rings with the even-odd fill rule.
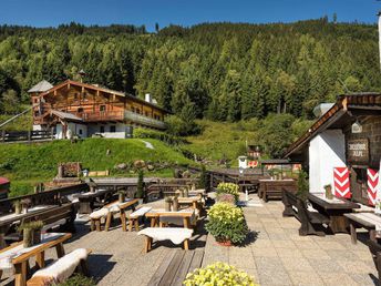
[[[334,234],[348,233],[349,223],[344,214],[352,213],[353,208],[360,208],[359,204],[338,197],[328,200],[322,194],[309,193],[308,201],[319,213],[329,217],[329,227]]]

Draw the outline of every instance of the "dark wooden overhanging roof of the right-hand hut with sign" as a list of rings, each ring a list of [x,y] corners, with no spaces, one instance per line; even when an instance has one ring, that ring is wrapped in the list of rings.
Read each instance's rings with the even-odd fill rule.
[[[352,115],[354,112],[361,112],[362,115],[369,115],[378,112],[381,115],[381,94],[377,92],[362,92],[353,94],[339,95],[334,105],[321,115],[312,126],[294,142],[287,150],[285,157],[292,155],[301,150],[306,144],[320,132],[327,130],[343,115]],[[346,121],[351,124],[350,121]]]

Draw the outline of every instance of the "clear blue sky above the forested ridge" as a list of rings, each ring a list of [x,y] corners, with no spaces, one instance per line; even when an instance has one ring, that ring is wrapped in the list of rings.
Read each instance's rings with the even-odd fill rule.
[[[84,24],[145,24],[148,31],[169,23],[291,22],[336,12],[339,21],[374,23],[375,0],[0,0],[0,23],[55,27]]]

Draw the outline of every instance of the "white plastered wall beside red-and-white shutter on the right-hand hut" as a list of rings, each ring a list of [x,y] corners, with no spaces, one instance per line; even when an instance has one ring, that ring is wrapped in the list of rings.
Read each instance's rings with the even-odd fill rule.
[[[346,166],[346,140],[341,130],[327,130],[309,144],[309,190],[325,192],[325,185],[333,188],[333,167]]]

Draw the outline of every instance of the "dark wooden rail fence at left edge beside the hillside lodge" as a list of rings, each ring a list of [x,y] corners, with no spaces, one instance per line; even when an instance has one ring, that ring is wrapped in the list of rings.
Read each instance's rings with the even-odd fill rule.
[[[0,143],[7,142],[32,142],[41,140],[53,140],[54,132],[45,130],[33,131],[4,131],[0,132]]]

